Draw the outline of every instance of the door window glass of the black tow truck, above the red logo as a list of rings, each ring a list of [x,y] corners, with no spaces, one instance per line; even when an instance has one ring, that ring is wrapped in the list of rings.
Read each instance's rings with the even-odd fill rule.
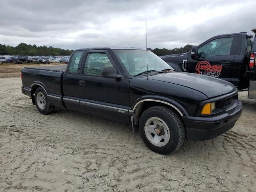
[[[232,46],[233,37],[220,38],[212,40],[198,49],[198,54],[206,54],[206,58],[216,55],[229,55]]]

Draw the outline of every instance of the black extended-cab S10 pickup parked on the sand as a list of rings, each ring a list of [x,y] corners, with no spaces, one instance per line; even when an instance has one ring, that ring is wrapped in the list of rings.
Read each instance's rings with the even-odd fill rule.
[[[99,58],[108,62],[98,62]],[[59,107],[130,122],[145,144],[160,154],[178,150],[185,136],[219,136],[242,113],[234,85],[177,72],[148,50],[79,49],[62,67],[22,69],[22,93],[32,98],[40,113]]]

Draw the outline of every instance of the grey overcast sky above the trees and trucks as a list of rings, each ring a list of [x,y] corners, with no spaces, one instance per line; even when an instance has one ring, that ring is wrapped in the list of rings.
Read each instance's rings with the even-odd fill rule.
[[[0,44],[59,48],[197,45],[256,28],[255,0],[1,0]]]

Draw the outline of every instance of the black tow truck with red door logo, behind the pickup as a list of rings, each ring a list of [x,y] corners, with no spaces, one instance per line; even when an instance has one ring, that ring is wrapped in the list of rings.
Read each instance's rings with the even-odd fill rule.
[[[256,34],[256,29],[252,30]],[[183,54],[161,56],[172,68],[226,80],[256,99],[256,39],[246,32],[214,36]]]

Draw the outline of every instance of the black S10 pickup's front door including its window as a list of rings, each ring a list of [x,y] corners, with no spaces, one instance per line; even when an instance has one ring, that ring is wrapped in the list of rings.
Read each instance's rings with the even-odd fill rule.
[[[98,57],[102,58],[99,62]],[[108,50],[90,50],[80,70],[80,106],[84,112],[129,121],[129,79],[104,78],[101,71],[105,67],[122,74]]]

